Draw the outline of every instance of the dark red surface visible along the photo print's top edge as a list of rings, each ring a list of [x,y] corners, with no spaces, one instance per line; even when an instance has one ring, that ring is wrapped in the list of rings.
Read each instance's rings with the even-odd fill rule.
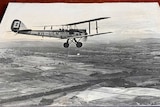
[[[103,2],[158,2],[160,0],[1,0],[0,1],[0,21],[6,10],[9,2],[24,2],[24,3],[103,3]]]

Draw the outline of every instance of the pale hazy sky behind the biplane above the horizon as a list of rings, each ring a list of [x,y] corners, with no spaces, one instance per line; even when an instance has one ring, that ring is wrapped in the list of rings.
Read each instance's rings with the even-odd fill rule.
[[[61,25],[98,17],[111,17],[99,21],[99,32],[113,32],[89,38],[89,41],[121,40],[127,38],[159,37],[160,8],[158,3],[9,3],[0,25],[0,38],[12,40],[40,40],[41,37],[16,35],[10,26],[14,19],[27,28],[43,29],[44,25]],[[91,23],[95,33],[95,23]],[[88,29],[88,24],[77,26]],[[44,38],[46,41],[57,39]]]

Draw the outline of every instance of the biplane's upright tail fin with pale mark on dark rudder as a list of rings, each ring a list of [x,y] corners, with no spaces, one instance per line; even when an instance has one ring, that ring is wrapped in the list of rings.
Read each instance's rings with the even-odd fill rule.
[[[11,30],[13,32],[18,32],[19,30],[27,29],[26,26],[20,20],[14,20],[11,25]]]

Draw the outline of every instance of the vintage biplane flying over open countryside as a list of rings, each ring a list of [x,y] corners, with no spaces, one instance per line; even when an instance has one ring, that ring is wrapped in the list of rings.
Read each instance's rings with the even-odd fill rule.
[[[66,39],[67,41],[63,44],[65,48],[68,48],[71,43],[75,43],[77,48],[82,47],[82,42],[80,42],[81,38],[84,38],[84,40],[87,40],[87,37],[89,36],[96,36],[96,35],[103,35],[108,34],[112,32],[98,32],[98,21],[103,19],[108,19],[110,17],[100,17],[96,19],[91,20],[85,20],[75,23],[69,23],[64,25],[46,25],[43,26],[43,30],[32,30],[27,29],[27,27],[24,25],[23,22],[20,20],[14,20],[11,25],[11,30],[17,34],[26,34],[26,35],[34,35],[34,36],[42,36],[42,37],[54,37],[54,38],[60,38],[60,39]],[[91,34],[91,22],[96,22],[96,33]],[[77,29],[77,27],[72,28],[72,26],[76,26],[79,24],[88,23],[88,33],[86,29]],[[62,28],[58,30],[53,30],[54,26],[61,26]],[[50,27],[49,30],[46,30],[46,27]],[[66,27],[64,29],[64,27]],[[79,39],[79,40],[77,40]]]

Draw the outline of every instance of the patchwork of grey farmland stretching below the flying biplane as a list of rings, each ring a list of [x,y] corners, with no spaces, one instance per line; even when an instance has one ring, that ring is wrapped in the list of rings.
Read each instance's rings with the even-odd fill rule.
[[[3,106],[160,104],[159,39],[80,49],[41,41],[1,44]]]

